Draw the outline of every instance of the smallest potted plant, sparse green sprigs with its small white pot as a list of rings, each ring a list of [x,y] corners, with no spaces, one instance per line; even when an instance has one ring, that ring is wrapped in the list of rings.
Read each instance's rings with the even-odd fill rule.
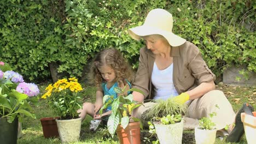
[[[202,117],[199,120],[199,127],[195,128],[195,141],[198,144],[212,144],[216,139],[216,124],[212,122],[212,117],[216,112],[210,113],[210,117]]]

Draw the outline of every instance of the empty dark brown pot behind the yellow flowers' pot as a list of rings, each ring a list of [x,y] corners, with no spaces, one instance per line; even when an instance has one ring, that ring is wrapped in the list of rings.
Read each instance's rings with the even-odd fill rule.
[[[45,138],[59,137],[57,123],[55,121],[55,119],[58,119],[58,118],[59,117],[45,117],[40,119]]]

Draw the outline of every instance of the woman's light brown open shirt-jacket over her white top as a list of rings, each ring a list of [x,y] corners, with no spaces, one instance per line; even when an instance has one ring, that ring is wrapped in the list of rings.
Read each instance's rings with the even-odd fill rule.
[[[147,47],[142,48],[139,53],[139,67],[132,85],[144,92],[144,99],[153,99],[154,86],[151,77],[155,55]],[[202,82],[216,79],[203,61],[198,47],[189,41],[181,46],[171,47],[170,56],[173,57],[173,83],[179,94],[199,86]]]

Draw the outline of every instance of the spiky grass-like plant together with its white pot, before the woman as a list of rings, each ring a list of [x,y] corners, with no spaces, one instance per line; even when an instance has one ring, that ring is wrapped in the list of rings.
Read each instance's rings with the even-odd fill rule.
[[[182,143],[182,116],[186,110],[186,104],[178,103],[173,98],[155,100],[146,117],[152,119],[160,143]]]

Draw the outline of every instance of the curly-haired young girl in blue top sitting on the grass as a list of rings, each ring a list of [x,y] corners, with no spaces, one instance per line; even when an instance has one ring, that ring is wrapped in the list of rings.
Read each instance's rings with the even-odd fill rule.
[[[117,98],[118,94],[114,92],[114,87],[123,89],[126,86],[126,89],[131,88],[129,81],[132,80],[132,70],[118,50],[106,49],[98,53],[92,61],[89,79],[97,87],[96,102],[94,104],[84,103],[83,109],[78,110],[82,121],[87,114],[94,119],[101,119],[102,116],[110,115],[111,106],[107,107],[101,116],[96,115],[103,106],[103,96],[108,94]]]

